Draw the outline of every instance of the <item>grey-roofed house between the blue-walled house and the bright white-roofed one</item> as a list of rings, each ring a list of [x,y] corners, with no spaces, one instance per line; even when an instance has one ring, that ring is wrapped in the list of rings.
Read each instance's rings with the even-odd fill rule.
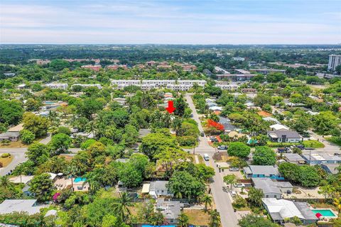
[[[293,192],[293,185],[290,182],[277,182],[270,178],[254,178],[252,182],[256,189],[261,189],[265,198],[281,199],[283,193],[291,194]]]

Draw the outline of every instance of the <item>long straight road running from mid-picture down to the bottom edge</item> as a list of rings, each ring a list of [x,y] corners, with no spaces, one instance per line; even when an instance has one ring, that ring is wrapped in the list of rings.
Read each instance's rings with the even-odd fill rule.
[[[193,118],[197,121],[198,127],[200,131],[203,131],[201,122],[197,116],[197,110],[193,104],[193,100],[190,97],[190,94],[186,94],[186,101],[193,112]],[[207,153],[210,156],[210,160],[208,162],[205,161],[205,164],[211,166],[215,169],[215,177],[213,177],[213,182],[210,184],[213,198],[215,199],[215,204],[217,206],[217,211],[220,213],[220,218],[222,221],[223,227],[235,227],[237,225],[237,216],[235,215],[232,202],[229,199],[227,192],[222,191],[222,187],[224,186],[224,182],[222,181],[222,175],[217,169],[215,162],[212,160],[212,155],[215,153],[215,148],[212,148],[208,142],[206,137],[200,137],[199,145],[195,148],[195,153],[203,155]]]

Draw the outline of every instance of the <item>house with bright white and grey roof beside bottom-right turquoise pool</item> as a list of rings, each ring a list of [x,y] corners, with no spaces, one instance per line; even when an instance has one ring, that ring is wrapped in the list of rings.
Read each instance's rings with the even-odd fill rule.
[[[263,198],[261,201],[271,219],[276,223],[283,224],[285,219],[295,216],[300,218],[304,225],[318,221],[318,218],[305,202],[293,202],[276,198]]]

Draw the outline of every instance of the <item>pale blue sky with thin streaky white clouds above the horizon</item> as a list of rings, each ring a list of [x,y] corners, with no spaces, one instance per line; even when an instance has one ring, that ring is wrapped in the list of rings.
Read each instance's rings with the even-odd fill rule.
[[[0,0],[0,43],[341,43],[340,0]]]

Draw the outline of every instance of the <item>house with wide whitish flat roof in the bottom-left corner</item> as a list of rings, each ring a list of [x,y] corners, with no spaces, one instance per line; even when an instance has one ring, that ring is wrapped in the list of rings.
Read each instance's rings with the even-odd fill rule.
[[[38,206],[37,199],[6,199],[0,204],[0,214],[27,212],[29,215],[40,213],[45,206]]]

